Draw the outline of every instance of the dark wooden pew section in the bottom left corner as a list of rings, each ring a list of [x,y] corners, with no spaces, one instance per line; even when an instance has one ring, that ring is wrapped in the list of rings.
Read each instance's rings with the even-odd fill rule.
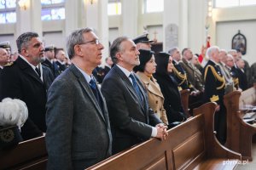
[[[44,136],[20,142],[14,148],[0,151],[0,169],[43,170],[46,169],[46,164]]]

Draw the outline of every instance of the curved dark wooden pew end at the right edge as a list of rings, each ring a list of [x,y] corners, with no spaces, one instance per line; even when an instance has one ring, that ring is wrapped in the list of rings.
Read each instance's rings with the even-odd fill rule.
[[[224,105],[227,109],[227,139],[225,146],[241,153],[242,160],[252,161],[252,139],[256,127],[243,121],[245,105],[255,105],[256,90],[249,88],[244,92],[234,91],[224,95]]]

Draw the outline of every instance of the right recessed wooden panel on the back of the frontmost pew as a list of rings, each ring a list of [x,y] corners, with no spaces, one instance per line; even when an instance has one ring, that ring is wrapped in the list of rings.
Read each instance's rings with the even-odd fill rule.
[[[189,162],[204,154],[203,133],[198,132],[172,150],[176,169],[187,167]],[[186,152],[186,154],[184,154]]]

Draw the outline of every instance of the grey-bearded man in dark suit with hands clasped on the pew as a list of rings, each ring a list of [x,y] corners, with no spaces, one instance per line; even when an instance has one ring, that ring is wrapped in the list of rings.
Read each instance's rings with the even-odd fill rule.
[[[113,68],[102,82],[113,133],[113,154],[134,144],[156,137],[165,139],[166,126],[148,108],[148,97],[142,83],[132,72],[139,65],[139,51],[128,37],[113,41],[110,55]]]

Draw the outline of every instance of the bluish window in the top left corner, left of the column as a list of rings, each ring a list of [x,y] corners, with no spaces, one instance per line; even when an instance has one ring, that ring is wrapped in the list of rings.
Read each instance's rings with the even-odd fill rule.
[[[16,22],[16,0],[0,0],[0,24]]]

